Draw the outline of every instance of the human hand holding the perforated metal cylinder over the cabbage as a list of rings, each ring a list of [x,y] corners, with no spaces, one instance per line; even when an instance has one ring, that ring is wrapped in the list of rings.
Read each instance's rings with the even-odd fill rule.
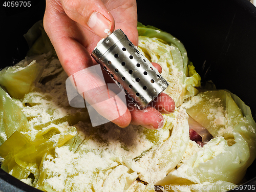
[[[80,91],[97,90],[83,97],[93,104],[100,115],[111,119],[114,113],[111,110],[114,107],[113,102],[111,100],[98,102],[104,91],[99,87],[105,85],[104,80],[80,71],[97,64],[90,53],[97,42],[112,33],[115,28],[122,29],[133,44],[138,46],[136,1],[47,0],[46,2],[44,28],[63,69],[69,76],[75,77],[76,86]],[[157,63],[153,65],[161,71]],[[109,91],[108,94],[113,93]],[[158,129],[163,126],[161,113],[172,113],[175,110],[173,99],[164,93],[161,93],[157,100],[152,102],[152,106],[148,106],[145,110],[135,110],[131,105],[123,103],[121,99],[116,99],[116,105],[119,111],[124,113],[112,122],[120,127],[132,123],[149,129]]]

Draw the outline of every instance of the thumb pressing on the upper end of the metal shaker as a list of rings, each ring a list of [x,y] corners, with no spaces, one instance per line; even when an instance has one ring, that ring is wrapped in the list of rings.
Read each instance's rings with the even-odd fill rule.
[[[60,0],[65,13],[75,22],[101,38],[114,31],[111,13],[100,0]]]

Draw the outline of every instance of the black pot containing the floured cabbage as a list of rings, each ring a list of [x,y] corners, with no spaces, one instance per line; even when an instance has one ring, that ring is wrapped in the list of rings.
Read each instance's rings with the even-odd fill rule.
[[[181,40],[202,81],[228,89],[250,106],[256,120],[256,7],[247,0],[139,1],[138,21],[167,31]],[[23,34],[44,16],[45,1],[31,7],[1,5],[0,68],[24,59]],[[256,162],[244,185],[256,185]],[[0,190],[39,191],[0,169]],[[247,190],[243,190],[247,191]],[[251,191],[251,190],[248,190]]]

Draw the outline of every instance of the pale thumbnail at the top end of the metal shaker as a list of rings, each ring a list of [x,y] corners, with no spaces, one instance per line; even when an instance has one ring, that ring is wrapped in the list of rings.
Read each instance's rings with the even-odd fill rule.
[[[111,22],[98,12],[93,12],[88,21],[88,26],[101,38],[110,34]]]

